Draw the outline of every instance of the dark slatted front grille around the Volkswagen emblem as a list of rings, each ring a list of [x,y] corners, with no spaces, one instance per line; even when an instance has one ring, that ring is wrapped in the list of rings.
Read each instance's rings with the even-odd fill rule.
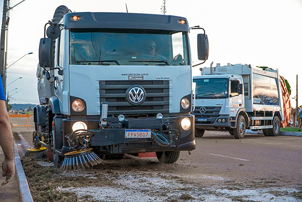
[[[100,103],[108,102],[108,115],[156,114],[169,111],[169,81],[99,81]],[[140,106],[133,106],[126,100],[126,91],[139,85],[146,91],[146,100]]]

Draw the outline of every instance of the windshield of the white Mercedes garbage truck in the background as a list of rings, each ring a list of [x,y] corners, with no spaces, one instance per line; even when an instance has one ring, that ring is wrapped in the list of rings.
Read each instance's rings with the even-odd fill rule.
[[[196,83],[196,98],[218,99],[228,97],[228,78],[197,78],[193,79],[193,82]]]

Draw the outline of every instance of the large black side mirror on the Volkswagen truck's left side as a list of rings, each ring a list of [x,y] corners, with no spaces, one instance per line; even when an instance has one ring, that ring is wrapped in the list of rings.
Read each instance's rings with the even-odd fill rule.
[[[51,38],[41,38],[39,46],[39,65],[40,67],[53,67],[53,40]]]

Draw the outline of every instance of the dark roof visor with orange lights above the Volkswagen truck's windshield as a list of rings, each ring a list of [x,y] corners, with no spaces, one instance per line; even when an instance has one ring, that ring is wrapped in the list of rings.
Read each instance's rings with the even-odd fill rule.
[[[186,18],[140,13],[68,13],[63,18],[64,29],[119,28],[189,31]]]

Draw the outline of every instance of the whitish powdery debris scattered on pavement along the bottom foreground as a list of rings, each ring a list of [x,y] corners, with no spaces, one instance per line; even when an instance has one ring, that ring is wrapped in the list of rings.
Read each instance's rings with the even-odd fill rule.
[[[187,178],[184,178],[187,179]],[[89,187],[58,187],[57,191],[67,191],[76,193],[79,201],[87,197],[95,201],[106,202],[163,202],[177,199],[179,202],[232,202],[234,198],[246,201],[278,201],[278,202],[299,202],[298,199],[291,197],[290,193],[298,192],[293,188],[280,187],[274,189],[251,189],[240,188],[240,190],[228,190],[221,187],[201,187],[182,181],[182,178],[173,175],[160,175],[156,173],[121,173],[113,178],[113,187],[110,186],[89,186]],[[279,193],[288,193],[285,195],[273,195],[274,191]],[[182,200],[182,195],[186,194],[191,199]]]

